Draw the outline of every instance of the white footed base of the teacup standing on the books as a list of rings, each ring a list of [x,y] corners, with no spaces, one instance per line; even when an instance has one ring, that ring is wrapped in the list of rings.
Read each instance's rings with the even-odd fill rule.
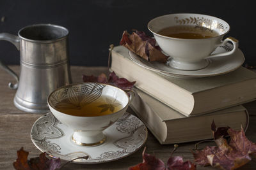
[[[208,59],[200,60],[198,62],[180,62],[179,60],[171,59],[168,62],[168,66],[173,67],[175,69],[193,71],[204,69],[209,65],[209,63],[210,62]]]

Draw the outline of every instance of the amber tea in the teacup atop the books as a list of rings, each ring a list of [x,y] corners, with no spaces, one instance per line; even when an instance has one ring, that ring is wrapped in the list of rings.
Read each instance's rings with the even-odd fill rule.
[[[193,25],[177,25],[161,29],[158,34],[172,38],[203,39],[218,36],[218,32]]]

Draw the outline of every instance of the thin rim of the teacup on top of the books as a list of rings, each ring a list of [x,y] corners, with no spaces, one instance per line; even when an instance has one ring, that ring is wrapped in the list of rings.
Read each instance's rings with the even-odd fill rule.
[[[198,39],[191,39],[191,38],[173,38],[173,37],[169,37],[169,36],[163,36],[161,34],[158,34],[157,32],[154,32],[152,31],[152,29],[150,29],[150,24],[154,21],[154,20],[157,20],[158,18],[161,18],[161,17],[166,17],[168,15],[202,15],[202,16],[207,16],[207,17],[213,17],[213,18],[217,18],[218,20],[221,20],[222,22],[224,22],[225,24],[228,25],[228,30],[223,32],[222,34],[219,34],[218,36],[214,36],[214,37],[211,37],[211,38],[198,38]],[[168,38],[168,39],[179,39],[179,40],[186,40],[186,41],[196,41],[196,40],[201,40],[201,39],[213,39],[213,38],[219,38],[221,36],[224,36],[225,34],[227,34],[229,31],[230,31],[230,25],[225,21],[225,20],[222,20],[221,18],[218,18],[218,17],[214,17],[214,16],[211,16],[211,15],[205,15],[205,14],[200,14],[200,13],[170,13],[170,14],[167,14],[167,15],[161,15],[159,17],[155,17],[153,18],[152,20],[150,20],[147,24],[147,27],[148,27],[148,30],[150,32],[152,32],[153,34],[156,34],[157,36],[161,36],[163,38]]]

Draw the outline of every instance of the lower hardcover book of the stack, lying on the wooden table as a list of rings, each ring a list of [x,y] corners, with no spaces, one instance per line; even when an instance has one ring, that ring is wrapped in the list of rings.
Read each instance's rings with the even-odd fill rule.
[[[161,144],[211,139],[213,120],[216,127],[228,126],[237,131],[241,130],[241,127],[246,131],[248,127],[248,112],[241,105],[205,115],[186,117],[145,92],[134,90],[136,97],[130,106]]]

